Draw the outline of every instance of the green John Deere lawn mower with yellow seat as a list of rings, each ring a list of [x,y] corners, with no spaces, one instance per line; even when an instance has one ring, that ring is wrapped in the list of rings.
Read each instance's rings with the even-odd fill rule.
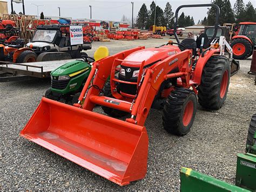
[[[95,60],[109,56],[109,50],[100,46],[94,58],[82,56],[83,60],[66,63],[51,72],[51,88],[45,92],[45,97],[73,105],[77,103],[80,92],[91,72],[91,64]]]

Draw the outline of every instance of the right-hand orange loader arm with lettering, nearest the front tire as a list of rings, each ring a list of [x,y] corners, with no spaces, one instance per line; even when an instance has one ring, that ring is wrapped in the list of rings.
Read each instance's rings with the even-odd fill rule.
[[[181,77],[183,86],[190,87],[191,66],[188,66],[188,58],[191,58],[192,52],[186,50],[170,56],[163,61],[159,61],[156,66],[147,70],[140,88],[138,97],[132,107],[131,115],[136,116],[137,125],[143,126],[149,114],[152,102],[163,81],[166,79]],[[178,73],[170,73],[175,68],[179,68]],[[132,119],[126,121],[132,122]]]

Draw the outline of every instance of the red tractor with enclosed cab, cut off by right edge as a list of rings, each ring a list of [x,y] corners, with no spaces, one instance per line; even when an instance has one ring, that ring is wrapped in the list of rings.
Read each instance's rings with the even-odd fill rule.
[[[256,49],[256,23],[242,22],[237,36],[230,43],[234,59],[246,59]]]

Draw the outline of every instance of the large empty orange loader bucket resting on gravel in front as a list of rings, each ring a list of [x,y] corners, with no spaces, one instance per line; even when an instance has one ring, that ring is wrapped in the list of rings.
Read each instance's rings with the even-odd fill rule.
[[[120,186],[146,174],[142,126],[42,98],[21,135]]]

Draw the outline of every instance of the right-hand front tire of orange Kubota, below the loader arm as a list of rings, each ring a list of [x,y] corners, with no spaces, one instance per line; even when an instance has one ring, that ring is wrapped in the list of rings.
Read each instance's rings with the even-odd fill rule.
[[[197,112],[197,97],[192,90],[176,88],[165,101],[163,126],[174,135],[187,134]]]

